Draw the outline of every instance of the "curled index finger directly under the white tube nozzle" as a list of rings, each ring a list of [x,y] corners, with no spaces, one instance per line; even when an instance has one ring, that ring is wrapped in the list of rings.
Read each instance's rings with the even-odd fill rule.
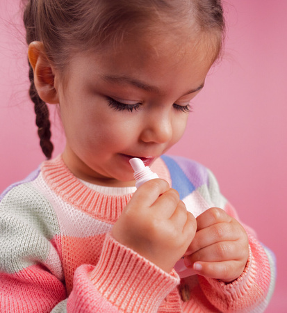
[[[133,194],[132,200],[142,204],[142,207],[150,207],[158,197],[170,190],[170,185],[164,179],[151,179]]]

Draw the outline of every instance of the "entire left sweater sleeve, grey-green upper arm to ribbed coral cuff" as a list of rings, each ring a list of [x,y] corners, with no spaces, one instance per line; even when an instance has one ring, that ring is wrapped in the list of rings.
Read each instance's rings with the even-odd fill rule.
[[[76,268],[67,295],[54,244],[56,216],[32,189],[13,188],[0,202],[1,312],[157,312],[179,276],[165,273],[110,234],[99,262]]]

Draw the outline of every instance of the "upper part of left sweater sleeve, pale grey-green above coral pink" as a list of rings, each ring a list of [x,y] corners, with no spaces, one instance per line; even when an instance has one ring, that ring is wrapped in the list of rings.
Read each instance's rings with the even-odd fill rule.
[[[55,223],[53,223],[55,222]],[[67,297],[53,237],[56,216],[31,188],[12,188],[0,202],[0,311],[51,312]]]

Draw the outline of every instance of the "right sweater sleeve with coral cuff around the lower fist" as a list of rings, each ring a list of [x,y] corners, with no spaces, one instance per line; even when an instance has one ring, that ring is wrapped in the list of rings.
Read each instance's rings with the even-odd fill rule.
[[[208,177],[211,202],[238,220],[236,210],[220,194],[218,183],[209,171]],[[231,283],[199,276],[199,284],[206,298],[220,312],[263,312],[274,291],[274,255],[256,239],[251,227],[244,224],[243,227],[249,237],[249,259],[242,275]]]

